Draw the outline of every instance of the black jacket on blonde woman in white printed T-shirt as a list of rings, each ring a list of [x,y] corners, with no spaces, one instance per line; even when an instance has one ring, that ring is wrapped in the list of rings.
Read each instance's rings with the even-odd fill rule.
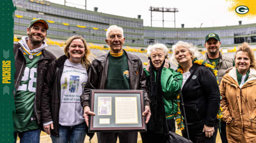
[[[59,111],[60,111],[60,78],[62,78],[64,63],[68,59],[66,55],[52,62],[44,79],[44,89],[41,99],[42,122],[53,121],[54,130],[51,135],[59,137]],[[94,133],[88,134],[90,138]]]

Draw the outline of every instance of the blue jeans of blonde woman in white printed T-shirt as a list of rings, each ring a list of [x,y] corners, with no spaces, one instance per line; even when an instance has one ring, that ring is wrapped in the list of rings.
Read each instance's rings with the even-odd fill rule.
[[[84,143],[86,124],[64,126],[59,125],[59,137],[52,136],[52,143]]]

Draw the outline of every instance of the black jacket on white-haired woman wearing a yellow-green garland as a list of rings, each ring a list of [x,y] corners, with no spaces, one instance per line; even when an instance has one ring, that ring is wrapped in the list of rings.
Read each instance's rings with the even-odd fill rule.
[[[188,124],[204,122],[213,127],[220,102],[216,78],[210,68],[197,64],[193,64],[190,73],[182,88]]]

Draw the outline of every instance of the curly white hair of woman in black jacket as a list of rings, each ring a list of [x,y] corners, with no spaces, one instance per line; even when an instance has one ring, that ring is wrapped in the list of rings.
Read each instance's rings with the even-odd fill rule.
[[[175,45],[172,45],[172,57],[171,60],[177,63],[177,60],[175,58],[175,50],[178,47],[184,47],[187,48],[188,52],[190,53],[190,55],[192,56],[192,58],[196,58],[196,56],[199,56],[200,53],[197,51],[197,48],[188,42],[183,42],[183,41],[179,41],[177,42]]]

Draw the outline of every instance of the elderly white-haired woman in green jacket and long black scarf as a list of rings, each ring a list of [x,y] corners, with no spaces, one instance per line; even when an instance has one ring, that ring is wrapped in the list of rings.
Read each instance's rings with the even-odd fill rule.
[[[143,143],[165,143],[166,133],[169,130],[175,132],[174,117],[180,113],[178,94],[182,85],[182,75],[170,68],[168,53],[169,50],[164,44],[148,47],[149,63],[144,72],[151,99],[151,119],[147,124],[148,131],[141,133]]]

